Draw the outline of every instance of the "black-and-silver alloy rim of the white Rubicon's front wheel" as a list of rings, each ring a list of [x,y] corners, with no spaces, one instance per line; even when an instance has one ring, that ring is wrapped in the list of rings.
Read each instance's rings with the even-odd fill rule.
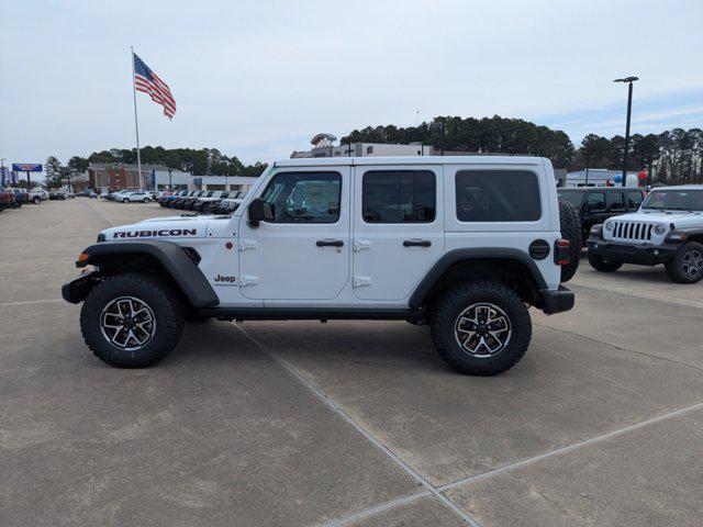
[[[134,351],[146,346],[156,333],[156,317],[144,301],[134,296],[112,300],[100,313],[100,332],[112,346]]]

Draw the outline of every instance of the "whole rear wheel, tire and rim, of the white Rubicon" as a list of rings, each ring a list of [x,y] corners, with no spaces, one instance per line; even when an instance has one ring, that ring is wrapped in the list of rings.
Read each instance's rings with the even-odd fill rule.
[[[495,375],[515,366],[532,338],[532,321],[522,299],[490,280],[453,287],[432,316],[435,348],[456,371]]]

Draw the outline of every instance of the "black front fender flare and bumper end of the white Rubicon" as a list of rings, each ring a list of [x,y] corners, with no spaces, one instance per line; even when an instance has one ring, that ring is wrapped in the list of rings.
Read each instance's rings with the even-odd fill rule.
[[[158,239],[103,242],[87,247],[83,254],[88,255],[88,258],[77,261],[77,267],[99,266],[101,260],[111,255],[148,255],[164,267],[194,307],[213,307],[220,303],[220,299],[198,265],[182,247],[174,243]],[[86,287],[85,282],[91,280],[96,280],[96,273],[83,274],[64,284],[62,289],[64,299],[71,303],[82,302],[92,289]]]

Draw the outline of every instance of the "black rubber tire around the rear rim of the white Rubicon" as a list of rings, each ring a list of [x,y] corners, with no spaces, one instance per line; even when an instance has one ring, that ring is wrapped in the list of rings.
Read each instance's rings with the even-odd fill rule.
[[[511,336],[502,350],[490,357],[476,357],[457,340],[455,325],[472,304],[490,303],[507,316]],[[439,356],[456,371],[468,375],[496,375],[523,358],[532,339],[532,319],[522,299],[510,288],[491,280],[461,282],[449,288],[434,307],[432,339]]]

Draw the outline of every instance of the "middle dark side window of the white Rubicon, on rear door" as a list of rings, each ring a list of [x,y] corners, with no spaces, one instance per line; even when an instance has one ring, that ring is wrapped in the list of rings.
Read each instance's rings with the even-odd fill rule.
[[[361,182],[366,223],[431,223],[436,181],[429,170],[370,170]]]

